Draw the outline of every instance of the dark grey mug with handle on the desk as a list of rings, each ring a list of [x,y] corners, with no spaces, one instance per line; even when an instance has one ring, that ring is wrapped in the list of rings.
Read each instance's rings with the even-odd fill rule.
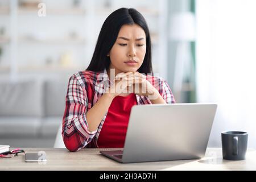
[[[248,134],[243,131],[221,133],[222,156],[226,160],[245,160]]]

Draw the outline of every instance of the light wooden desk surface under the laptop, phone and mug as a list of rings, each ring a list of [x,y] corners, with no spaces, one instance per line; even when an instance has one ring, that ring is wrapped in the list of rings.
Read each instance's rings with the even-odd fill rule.
[[[24,154],[0,158],[0,170],[256,170],[256,151],[248,148],[246,160],[222,159],[221,148],[207,148],[205,157],[196,160],[172,160],[121,164],[100,154],[100,150],[120,148],[85,148],[69,152],[65,148],[23,148],[26,152],[46,152],[46,163],[27,163]]]

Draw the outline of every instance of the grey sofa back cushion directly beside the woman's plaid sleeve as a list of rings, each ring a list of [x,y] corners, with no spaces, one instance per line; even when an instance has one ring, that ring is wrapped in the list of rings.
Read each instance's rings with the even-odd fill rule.
[[[45,82],[45,117],[63,116],[67,88],[67,81],[48,80]]]

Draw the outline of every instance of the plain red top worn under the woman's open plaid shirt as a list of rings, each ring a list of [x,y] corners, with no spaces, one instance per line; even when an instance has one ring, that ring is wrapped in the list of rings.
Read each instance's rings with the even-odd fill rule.
[[[134,93],[126,97],[117,96],[113,99],[98,137],[98,147],[124,147],[131,107],[134,105],[137,105]]]

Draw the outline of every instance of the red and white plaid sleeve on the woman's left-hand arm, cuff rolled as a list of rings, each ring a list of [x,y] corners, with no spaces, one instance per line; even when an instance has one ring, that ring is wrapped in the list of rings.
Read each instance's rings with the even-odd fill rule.
[[[97,133],[97,131],[90,132],[88,130],[86,121],[86,111],[88,110],[87,85],[79,82],[77,76],[79,75],[72,75],[69,78],[63,115],[62,136],[69,151],[78,151],[84,148]]]

